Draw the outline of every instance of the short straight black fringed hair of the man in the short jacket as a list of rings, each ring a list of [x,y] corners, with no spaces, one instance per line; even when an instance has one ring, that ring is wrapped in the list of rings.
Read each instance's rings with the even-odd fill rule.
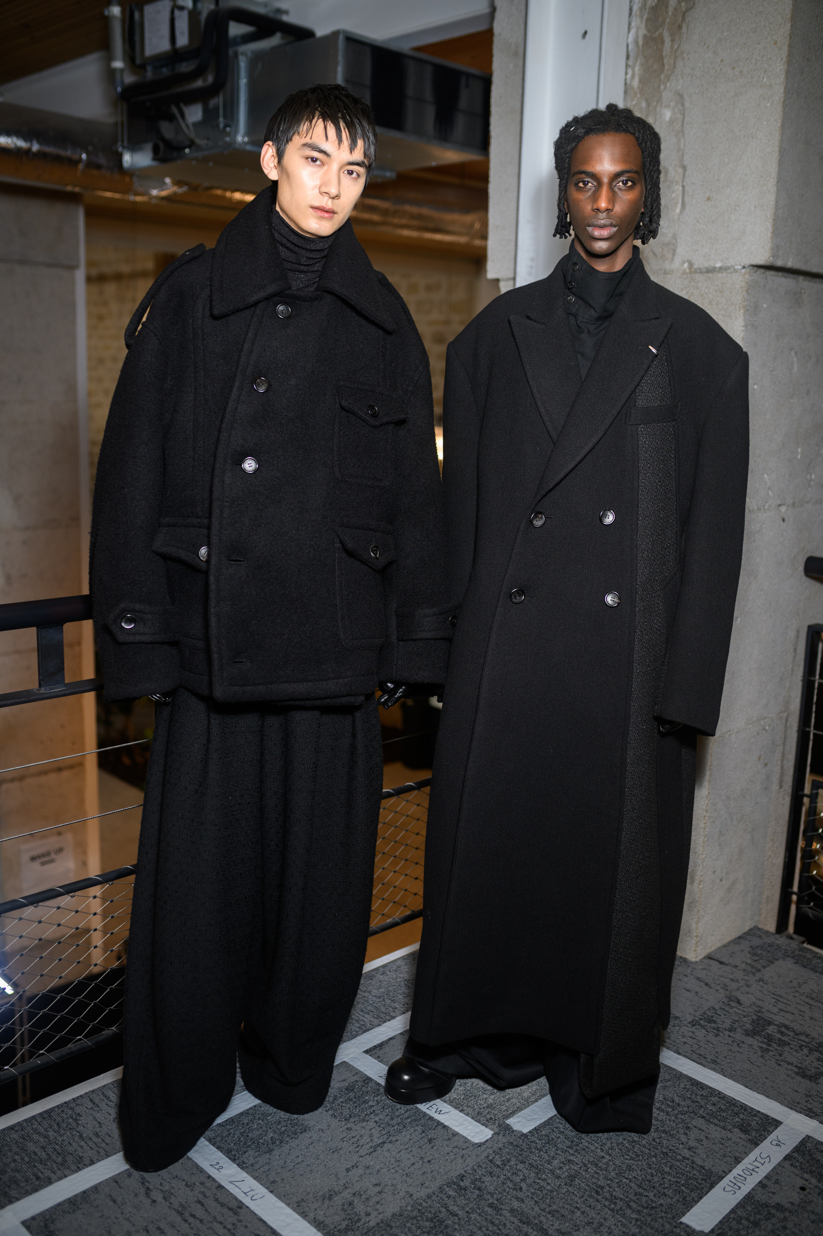
[[[344,133],[348,137],[348,150],[357,150],[363,143],[363,157],[368,164],[368,176],[374,168],[377,156],[377,132],[372,110],[367,103],[347,90],[345,85],[310,85],[305,90],[295,90],[279,105],[268,125],[263,142],[272,142],[277,157],[283,158],[285,147],[295,133],[311,130],[314,122],[321,120],[326,131],[332,129],[337,145],[342,146]]]

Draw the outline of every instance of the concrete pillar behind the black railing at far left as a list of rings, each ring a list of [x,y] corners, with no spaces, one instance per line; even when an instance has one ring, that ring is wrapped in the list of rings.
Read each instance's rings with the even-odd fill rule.
[[[88,591],[83,246],[75,199],[0,187],[0,603]],[[94,677],[90,623],[64,633],[67,680]],[[33,630],[0,634],[0,691],[36,686]],[[93,695],[0,708],[2,769],[95,747]],[[0,837],[96,810],[94,756],[0,774]],[[2,842],[0,896],[78,879],[99,861],[96,821]]]

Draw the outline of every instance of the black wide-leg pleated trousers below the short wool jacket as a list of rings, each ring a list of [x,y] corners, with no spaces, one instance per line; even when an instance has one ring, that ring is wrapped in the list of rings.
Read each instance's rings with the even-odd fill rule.
[[[129,938],[120,1127],[159,1170],[227,1106],[236,1063],[318,1109],[357,994],[383,785],[377,705],[158,705]],[[242,1032],[241,1032],[242,1027]]]

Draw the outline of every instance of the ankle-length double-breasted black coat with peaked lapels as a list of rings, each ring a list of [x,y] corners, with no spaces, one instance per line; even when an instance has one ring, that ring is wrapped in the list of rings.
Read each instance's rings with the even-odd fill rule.
[[[593,1098],[655,1072],[669,1017],[694,734],[717,726],[740,569],[748,358],[640,266],[581,382],[563,295],[557,267],[449,350],[461,612],[412,1035],[551,1039]]]

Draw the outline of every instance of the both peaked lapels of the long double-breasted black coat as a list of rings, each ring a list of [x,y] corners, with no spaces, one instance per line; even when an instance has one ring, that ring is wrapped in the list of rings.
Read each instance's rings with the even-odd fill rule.
[[[640,265],[609,321],[581,382],[563,303],[561,262],[534,284],[525,314],[512,315],[512,331],[538,408],[555,445],[538,498],[562,481],[597,445],[643,378],[671,319],[656,284]]]

